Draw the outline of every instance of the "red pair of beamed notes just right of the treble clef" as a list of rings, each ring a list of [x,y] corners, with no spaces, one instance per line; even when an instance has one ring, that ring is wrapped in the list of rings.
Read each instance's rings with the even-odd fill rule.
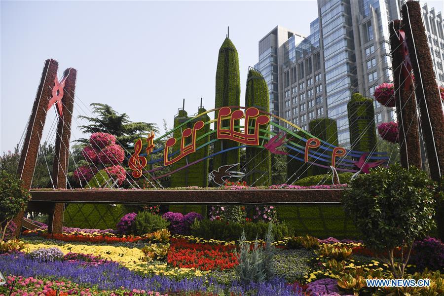
[[[199,120],[194,123],[192,129],[187,128],[182,132],[180,154],[170,160],[168,159],[168,151],[170,147],[173,147],[176,144],[176,139],[168,139],[165,143],[165,149],[163,150],[163,164],[165,166],[173,164],[184,158],[186,155],[194,153],[196,151],[196,132],[203,128],[204,125],[205,123],[202,120]],[[191,137],[191,142],[188,145],[185,145],[185,141],[189,137]]]

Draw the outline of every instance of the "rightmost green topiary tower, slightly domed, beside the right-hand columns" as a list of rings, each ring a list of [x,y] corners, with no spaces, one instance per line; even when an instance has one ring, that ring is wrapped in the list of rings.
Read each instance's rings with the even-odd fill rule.
[[[371,151],[376,145],[373,101],[354,93],[347,104],[352,150]]]

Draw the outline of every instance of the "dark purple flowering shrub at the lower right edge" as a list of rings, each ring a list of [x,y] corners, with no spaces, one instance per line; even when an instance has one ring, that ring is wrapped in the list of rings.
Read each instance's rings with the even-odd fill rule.
[[[420,270],[444,269],[444,243],[440,239],[426,237],[415,241],[411,255],[411,262]]]

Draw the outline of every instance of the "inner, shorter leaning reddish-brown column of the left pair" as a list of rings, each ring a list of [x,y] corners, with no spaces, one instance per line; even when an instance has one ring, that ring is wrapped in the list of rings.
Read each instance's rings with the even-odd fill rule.
[[[74,90],[77,71],[68,68],[63,73],[65,79],[64,94],[62,98],[63,116],[59,116],[57,124],[57,135],[55,142],[54,163],[52,176],[55,188],[66,188],[66,173],[70,158],[71,119],[74,108]],[[52,210],[52,211],[51,211]],[[63,203],[56,203],[50,209],[48,217],[48,233],[62,233],[63,226]]]

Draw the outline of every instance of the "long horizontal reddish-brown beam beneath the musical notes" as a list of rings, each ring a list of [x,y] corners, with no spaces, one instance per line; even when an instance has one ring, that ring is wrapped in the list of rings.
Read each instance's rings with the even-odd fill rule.
[[[340,204],[345,189],[31,190],[32,203],[302,205]]]

